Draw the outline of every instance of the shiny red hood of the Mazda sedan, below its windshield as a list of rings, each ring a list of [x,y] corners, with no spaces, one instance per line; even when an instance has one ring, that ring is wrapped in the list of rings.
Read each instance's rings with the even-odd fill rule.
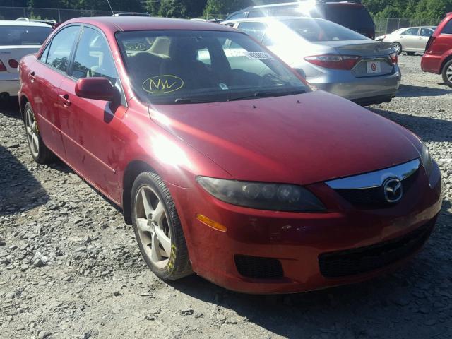
[[[420,157],[408,130],[322,91],[153,105],[150,117],[239,180],[311,184]]]

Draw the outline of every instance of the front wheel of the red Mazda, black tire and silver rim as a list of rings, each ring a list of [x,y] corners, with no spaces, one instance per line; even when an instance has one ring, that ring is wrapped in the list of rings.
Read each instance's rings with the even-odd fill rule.
[[[157,174],[143,172],[135,179],[131,213],[141,255],[153,273],[162,280],[190,275],[193,271],[179,215],[165,182]]]

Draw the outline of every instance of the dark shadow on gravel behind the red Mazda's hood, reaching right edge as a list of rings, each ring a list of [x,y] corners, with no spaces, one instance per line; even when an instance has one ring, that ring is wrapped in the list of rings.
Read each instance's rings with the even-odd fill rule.
[[[378,108],[369,108],[372,112],[395,121],[416,133],[423,141],[452,141],[452,121],[401,114]]]

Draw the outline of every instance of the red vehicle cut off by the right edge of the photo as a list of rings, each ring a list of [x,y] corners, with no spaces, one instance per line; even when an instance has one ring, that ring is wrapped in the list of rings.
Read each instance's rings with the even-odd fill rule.
[[[441,74],[444,83],[452,87],[452,13],[446,15],[427,42],[421,68]]]

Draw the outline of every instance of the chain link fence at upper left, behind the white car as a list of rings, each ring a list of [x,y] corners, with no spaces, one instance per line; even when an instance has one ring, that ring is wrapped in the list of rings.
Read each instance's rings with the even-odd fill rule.
[[[126,13],[126,12],[121,12]],[[56,20],[62,23],[66,20],[86,16],[111,16],[111,11],[95,11],[90,9],[57,9],[37,7],[0,7],[0,20],[16,20],[29,18],[40,20]]]

